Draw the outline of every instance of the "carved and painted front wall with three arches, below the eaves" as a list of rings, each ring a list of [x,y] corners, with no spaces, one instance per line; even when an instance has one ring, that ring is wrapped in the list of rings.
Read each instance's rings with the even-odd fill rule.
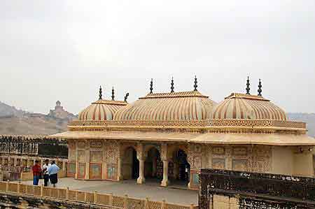
[[[179,156],[180,150],[184,157]],[[188,167],[181,168],[185,160]],[[68,175],[78,179],[135,178],[143,184],[148,173],[158,176],[159,165],[162,186],[188,172],[188,187],[197,189],[201,168],[272,172],[272,146],[69,140]]]

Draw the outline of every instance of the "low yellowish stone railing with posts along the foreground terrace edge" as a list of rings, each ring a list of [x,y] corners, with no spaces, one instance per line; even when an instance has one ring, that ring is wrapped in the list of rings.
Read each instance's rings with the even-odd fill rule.
[[[6,194],[20,194],[21,196],[36,196],[41,199],[55,199],[89,203],[97,206],[106,206],[116,209],[198,209],[193,204],[183,206],[167,203],[166,201],[150,201],[147,199],[134,199],[126,196],[114,196],[113,194],[100,194],[97,192],[83,192],[67,188],[53,188],[22,184],[21,182],[0,182],[0,192]]]

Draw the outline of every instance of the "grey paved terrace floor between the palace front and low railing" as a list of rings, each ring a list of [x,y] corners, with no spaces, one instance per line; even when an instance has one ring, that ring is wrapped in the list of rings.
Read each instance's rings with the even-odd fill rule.
[[[124,180],[123,182],[110,182],[99,180],[75,180],[74,178],[61,178],[58,180],[57,187],[69,187],[73,190],[82,190],[99,193],[110,194],[116,196],[124,196],[127,194],[130,197],[137,199],[145,199],[148,197],[152,201],[165,201],[169,203],[178,203],[182,205],[197,205],[198,192],[187,189],[176,189],[174,187],[160,187],[158,182],[148,180],[144,185],[137,185],[136,180]],[[32,184],[32,181],[27,181]],[[43,184],[40,180],[39,184]]]

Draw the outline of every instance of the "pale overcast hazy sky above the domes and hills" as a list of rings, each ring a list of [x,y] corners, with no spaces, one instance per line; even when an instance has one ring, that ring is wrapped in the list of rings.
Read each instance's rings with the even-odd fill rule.
[[[288,112],[315,112],[315,1],[0,0],[0,101],[78,113],[97,99],[198,89],[214,101],[251,77]]]

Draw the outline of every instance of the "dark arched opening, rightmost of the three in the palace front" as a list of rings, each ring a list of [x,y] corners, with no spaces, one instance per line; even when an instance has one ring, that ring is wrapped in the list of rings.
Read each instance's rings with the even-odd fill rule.
[[[184,150],[176,150],[173,154],[173,173],[169,175],[173,185],[187,186],[190,181],[190,164]]]

